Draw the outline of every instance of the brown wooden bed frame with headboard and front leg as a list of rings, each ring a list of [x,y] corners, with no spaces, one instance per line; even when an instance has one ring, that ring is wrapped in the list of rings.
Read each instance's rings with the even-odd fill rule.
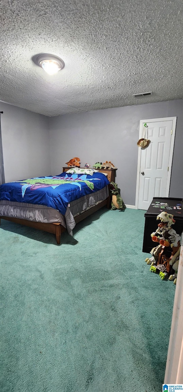
[[[69,169],[70,169],[69,167],[63,167],[63,172],[66,172]],[[115,182],[115,169],[111,169],[111,170],[98,169],[98,170],[102,173],[107,173],[108,174],[107,178],[110,182],[111,181]],[[111,196],[109,195],[106,200],[95,205],[94,207],[91,207],[89,210],[82,212],[82,214],[76,216],[74,218],[74,220],[76,223],[78,223],[81,220],[87,218],[87,216],[90,216],[91,214],[93,214],[93,212],[96,212],[99,209],[101,209],[102,207],[104,207],[104,205],[106,205],[107,208],[109,209],[110,204],[111,204]],[[18,223],[19,225],[25,225],[25,226],[33,227],[34,229],[43,230],[43,231],[47,231],[49,233],[53,233],[56,236],[56,240],[57,240],[58,245],[60,245],[61,233],[66,230],[66,228],[64,226],[62,226],[61,223],[40,223],[40,222],[33,222],[33,221],[25,220],[25,219],[9,218],[7,216],[0,216],[0,222],[1,222],[1,219],[15,222],[15,223]]]

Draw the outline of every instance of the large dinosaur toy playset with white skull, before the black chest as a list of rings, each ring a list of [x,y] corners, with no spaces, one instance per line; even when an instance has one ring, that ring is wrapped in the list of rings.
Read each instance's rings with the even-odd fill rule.
[[[161,279],[168,277],[172,268],[176,269],[178,267],[180,236],[172,229],[172,225],[175,223],[173,218],[172,214],[165,211],[157,216],[157,220],[161,222],[158,224],[156,232],[151,234],[152,241],[156,242],[157,246],[150,252],[152,257],[145,260],[147,264],[151,264],[150,271],[159,272]],[[177,263],[175,267],[174,263]],[[174,274],[170,277],[170,280],[176,279]]]

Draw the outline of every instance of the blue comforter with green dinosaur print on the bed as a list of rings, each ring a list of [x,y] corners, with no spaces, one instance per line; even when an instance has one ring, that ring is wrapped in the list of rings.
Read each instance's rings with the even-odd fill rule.
[[[109,184],[107,177],[100,173],[61,173],[55,177],[37,177],[0,185],[0,200],[46,205],[65,215],[68,203],[80,197],[97,192]]]

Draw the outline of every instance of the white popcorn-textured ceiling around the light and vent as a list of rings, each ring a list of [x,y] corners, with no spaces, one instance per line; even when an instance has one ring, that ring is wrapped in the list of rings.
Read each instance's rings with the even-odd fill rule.
[[[180,0],[2,0],[0,37],[0,100],[25,109],[57,116],[183,98]],[[64,69],[49,76],[31,60],[39,53]]]

